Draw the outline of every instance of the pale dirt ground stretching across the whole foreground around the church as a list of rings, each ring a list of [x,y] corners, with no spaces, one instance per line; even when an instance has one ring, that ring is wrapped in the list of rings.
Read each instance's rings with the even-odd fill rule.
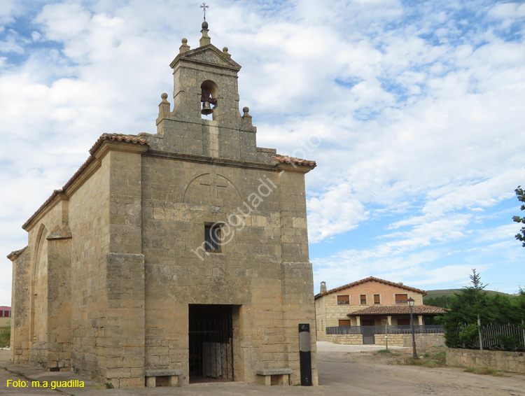
[[[324,344],[324,345],[323,345]],[[525,376],[505,374],[489,376],[471,374],[457,367],[419,367],[396,362],[412,354],[411,349],[395,349],[393,354],[377,353],[376,348],[335,346],[319,343],[319,386],[258,386],[247,383],[193,384],[181,388],[104,389],[86,384],[85,388],[63,388],[62,391],[34,388],[6,388],[7,379],[28,378],[83,379],[69,372],[45,372],[34,367],[20,367],[6,362],[8,351],[0,351],[0,395],[76,395],[76,396],[248,396],[248,395],[313,395],[313,396],[525,396]],[[418,351],[424,352],[424,351]],[[435,353],[435,351],[430,351]]]

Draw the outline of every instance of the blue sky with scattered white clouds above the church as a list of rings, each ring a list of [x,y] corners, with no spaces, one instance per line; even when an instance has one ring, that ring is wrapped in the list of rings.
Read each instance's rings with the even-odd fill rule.
[[[103,133],[155,133],[201,1],[0,1],[0,305],[22,224]],[[367,276],[525,287],[525,3],[207,1],[258,146],[306,175],[315,292]]]

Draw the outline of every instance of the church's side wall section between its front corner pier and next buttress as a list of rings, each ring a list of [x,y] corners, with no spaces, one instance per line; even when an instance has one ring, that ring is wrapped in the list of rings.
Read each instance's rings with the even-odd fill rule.
[[[110,165],[108,155],[98,158],[91,176],[69,198],[71,369],[94,379],[102,379],[104,363]]]

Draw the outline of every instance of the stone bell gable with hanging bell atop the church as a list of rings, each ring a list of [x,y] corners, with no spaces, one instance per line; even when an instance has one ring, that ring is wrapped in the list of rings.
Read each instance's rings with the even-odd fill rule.
[[[202,22],[200,46],[182,39],[179,55],[169,65],[174,76],[174,106],[162,94],[157,119],[162,150],[207,157],[268,162],[256,148],[256,129],[244,107],[239,113],[237,73],[241,66],[228,48],[211,44],[208,23]],[[211,114],[211,120],[203,115]]]

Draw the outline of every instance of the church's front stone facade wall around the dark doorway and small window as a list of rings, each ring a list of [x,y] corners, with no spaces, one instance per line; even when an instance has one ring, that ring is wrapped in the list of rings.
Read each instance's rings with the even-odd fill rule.
[[[254,382],[258,369],[290,367],[290,381],[300,380],[298,324],[315,334],[311,264],[297,260],[308,259],[304,176],[283,177],[144,155],[148,369],[181,369],[187,383],[188,304],[230,304],[238,306],[235,379]],[[251,196],[260,191],[261,199]],[[232,226],[237,221],[241,227]],[[204,225],[214,222],[224,224],[228,242],[206,253],[198,248]]]

